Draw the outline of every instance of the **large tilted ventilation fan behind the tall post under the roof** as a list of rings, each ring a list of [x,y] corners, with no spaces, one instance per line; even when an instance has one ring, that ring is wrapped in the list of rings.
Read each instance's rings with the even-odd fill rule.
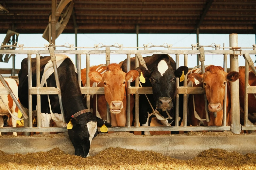
[[[73,0],[61,0],[56,9],[56,38],[65,29],[68,20],[72,14],[74,2]],[[43,32],[43,38],[51,42],[51,15],[49,16],[49,24]]]

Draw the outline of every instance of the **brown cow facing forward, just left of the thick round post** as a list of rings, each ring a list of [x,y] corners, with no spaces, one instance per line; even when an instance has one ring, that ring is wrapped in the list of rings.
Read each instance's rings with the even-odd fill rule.
[[[221,126],[223,118],[223,100],[225,95],[225,86],[227,85],[227,125],[231,123],[230,114],[230,84],[226,81],[236,81],[240,74],[232,71],[226,73],[221,66],[210,65],[205,68],[204,74],[192,73],[188,76],[190,81],[193,82],[193,87],[205,88],[206,98],[209,102],[208,111],[210,112],[210,122],[200,121],[195,118],[194,106],[193,106],[193,95],[189,96],[189,113],[191,118],[191,125],[198,126],[200,124],[206,126]],[[195,84],[195,80],[200,83]],[[194,94],[195,109],[201,119],[206,119],[205,115],[205,104],[204,94]],[[214,117],[213,112],[217,112]]]

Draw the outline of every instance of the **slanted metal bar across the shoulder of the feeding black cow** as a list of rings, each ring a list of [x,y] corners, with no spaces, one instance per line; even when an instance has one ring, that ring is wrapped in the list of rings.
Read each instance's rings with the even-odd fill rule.
[[[62,122],[65,123],[66,122],[66,120],[65,120],[65,112],[64,112],[64,109],[63,109],[63,105],[62,105],[60,80],[59,80],[59,76],[58,76],[58,70],[57,70],[57,64],[56,64],[56,57],[55,57],[55,53],[54,53],[54,48],[50,47],[49,51],[50,51],[51,61],[52,61],[53,70],[54,70],[54,77],[55,77],[55,81],[56,81],[56,87],[57,87],[57,89],[60,90],[60,93],[58,94],[58,97],[59,97],[59,103],[60,103],[60,111],[61,111],[61,115],[62,115]]]

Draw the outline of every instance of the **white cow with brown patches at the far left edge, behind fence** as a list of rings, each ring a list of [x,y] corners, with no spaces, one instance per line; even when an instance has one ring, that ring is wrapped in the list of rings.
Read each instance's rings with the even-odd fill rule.
[[[14,96],[18,99],[18,85],[16,83],[16,81],[12,78],[4,78],[6,83],[9,85],[10,89],[12,90]],[[0,87],[4,88],[4,85],[2,83],[0,83]],[[18,116],[18,106],[16,106],[16,104],[14,103],[13,99],[11,98],[11,95],[2,95],[1,94],[2,99],[4,100],[5,104],[8,106],[11,114]],[[3,116],[5,115],[9,115],[9,111],[6,108],[6,106],[4,105],[4,103],[0,100],[0,127],[4,126],[4,120],[3,120]],[[12,121],[12,127],[16,127],[17,126],[17,120],[14,120],[13,118],[11,118]],[[1,132],[0,132],[0,135]],[[17,132],[13,132],[13,135],[17,136]]]

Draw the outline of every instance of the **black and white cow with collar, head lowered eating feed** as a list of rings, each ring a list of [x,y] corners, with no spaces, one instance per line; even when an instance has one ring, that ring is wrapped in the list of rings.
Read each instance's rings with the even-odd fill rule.
[[[77,68],[73,61],[67,55],[56,55],[56,60],[65,121],[71,120],[73,124],[68,134],[75,148],[75,155],[86,157],[89,156],[91,141],[97,135],[97,126],[102,126],[104,121],[87,110],[77,80]],[[56,87],[50,56],[40,57],[41,87],[45,87],[44,76],[48,87]],[[32,58],[32,86],[36,86],[36,58]],[[27,58],[21,62],[18,96],[21,104],[28,108]],[[49,95],[49,97],[52,113],[47,95],[41,95],[41,126],[49,127],[52,118],[58,126],[66,127],[67,123],[62,122],[58,95]],[[32,95],[32,104],[33,110],[36,110],[36,95]],[[106,126],[111,125],[106,123]]]

